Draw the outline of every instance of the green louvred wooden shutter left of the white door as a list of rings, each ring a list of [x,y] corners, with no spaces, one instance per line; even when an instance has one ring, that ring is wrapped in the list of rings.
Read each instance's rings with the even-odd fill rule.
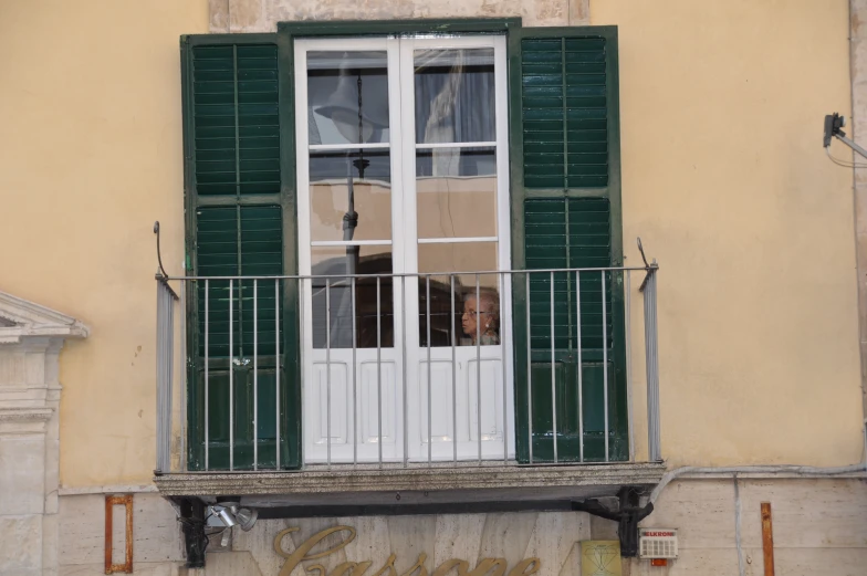
[[[199,276],[280,275],[291,238],[281,159],[281,64],[275,34],[184,36],[181,65],[188,262]],[[290,224],[291,227],[291,224]],[[208,383],[205,381],[205,282],[190,289],[188,465],[205,468],[205,387],[208,387],[209,468],[229,468],[229,371],[233,378],[236,469],[253,462],[252,360],[258,362],[259,465],[276,460],[276,366],[281,366],[281,465],[297,465],[296,390],[288,387],[285,286],[210,280]],[[276,333],[276,303],[281,326]],[[230,310],[231,310],[231,350]],[[275,356],[280,338],[280,357]],[[230,362],[231,358],[233,362]],[[291,356],[291,355],[290,355]]]

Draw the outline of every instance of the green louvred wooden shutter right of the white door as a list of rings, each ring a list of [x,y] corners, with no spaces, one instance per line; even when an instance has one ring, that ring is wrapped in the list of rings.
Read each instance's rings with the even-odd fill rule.
[[[617,266],[620,241],[617,31],[523,29],[510,38],[515,268]],[[519,57],[514,57],[518,54]],[[605,460],[604,376],[608,373],[608,459],[628,457],[623,275],[581,274],[581,365],[575,273],[515,283],[515,384],[519,459],[578,461],[578,373],[583,380],[584,460]],[[526,325],[526,305],[530,322]],[[603,314],[605,306],[605,315]],[[603,338],[603,317],[605,335]],[[527,348],[532,380],[529,413]],[[553,377],[556,404],[552,399]],[[607,355],[607,365],[603,362]],[[532,423],[532,438],[531,428]]]

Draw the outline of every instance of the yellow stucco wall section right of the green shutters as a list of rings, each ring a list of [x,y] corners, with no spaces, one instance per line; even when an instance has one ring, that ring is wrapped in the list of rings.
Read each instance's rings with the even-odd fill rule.
[[[848,3],[592,0],[591,19],[619,27],[628,261],[640,235],[662,269],[664,455],[857,462],[853,179],[821,146],[850,103]]]

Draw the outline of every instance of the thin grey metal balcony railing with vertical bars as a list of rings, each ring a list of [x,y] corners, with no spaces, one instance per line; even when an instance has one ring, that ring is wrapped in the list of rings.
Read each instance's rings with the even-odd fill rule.
[[[158,275],[156,472],[660,461],[656,273]]]

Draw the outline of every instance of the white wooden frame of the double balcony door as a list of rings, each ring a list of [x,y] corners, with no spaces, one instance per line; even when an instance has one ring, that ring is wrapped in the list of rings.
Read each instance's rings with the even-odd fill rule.
[[[310,201],[310,151],[309,122],[307,122],[307,92],[306,92],[306,52],[307,51],[385,51],[388,62],[388,98],[389,98],[389,143],[386,145],[390,155],[391,168],[391,241],[368,241],[366,243],[377,243],[391,245],[393,272],[394,273],[416,273],[418,272],[418,244],[417,221],[416,221],[416,157],[415,149],[432,147],[431,145],[416,145],[415,137],[415,98],[414,88],[414,52],[418,49],[494,49],[494,90],[495,90],[495,150],[497,150],[497,237],[492,238],[471,238],[471,239],[436,239],[421,240],[420,243],[441,243],[441,242],[498,242],[498,269],[511,270],[511,205],[510,205],[510,182],[509,182],[509,121],[508,121],[508,77],[505,57],[505,36],[494,34],[473,34],[473,35],[448,35],[448,36],[380,36],[380,38],[344,38],[344,39],[299,39],[294,43],[294,74],[295,74],[295,138],[296,138],[296,185],[297,185],[297,250],[299,250],[299,272],[301,275],[310,275],[312,272],[311,248],[312,247],[342,247],[357,245],[365,242],[358,241],[311,241],[311,201]],[[328,148],[370,148],[383,149],[383,144],[368,145],[321,145],[316,149]],[[457,147],[455,145],[443,145]],[[467,146],[466,144],[458,146]],[[490,144],[487,144],[490,146]],[[450,271],[438,271],[450,272]],[[310,394],[310,386],[313,384],[314,374],[312,366],[315,360],[313,356],[321,355],[321,350],[313,349],[312,331],[312,302],[306,294],[311,290],[311,282],[301,283],[301,334],[302,334],[302,453],[305,463],[318,462],[353,462],[357,458],[358,462],[376,462],[382,458],[383,461],[395,462],[405,460],[422,460],[419,458],[417,447],[414,448],[412,438],[406,426],[411,427],[412,422],[407,422],[408,398],[414,395],[408,391],[407,383],[408,358],[418,358],[419,353],[426,348],[418,347],[418,291],[410,279],[406,280],[406,294],[403,293],[400,282],[394,282],[394,345],[395,348],[386,352],[380,350],[382,359],[389,362],[393,366],[396,385],[386,390],[383,397],[386,412],[395,411],[394,429],[389,429],[389,439],[383,437],[383,442],[375,442],[377,446],[363,447],[364,436],[361,440],[355,439],[358,433],[358,426],[354,418],[356,406],[353,406],[353,415],[346,422],[346,437],[327,434],[331,441],[327,446],[327,455],[323,458],[322,441],[314,442],[315,430],[321,429],[323,422],[318,415],[320,406],[316,404],[314,395]],[[422,282],[419,281],[418,286]],[[481,359],[499,359],[502,366],[504,378],[504,397],[498,399],[505,402],[504,409],[498,410],[505,418],[504,422],[499,422],[505,437],[505,452],[503,451],[502,439],[500,440],[499,452],[491,452],[485,447],[484,459],[514,459],[515,454],[515,421],[514,421],[514,378],[513,378],[513,343],[512,343],[512,314],[511,314],[511,277],[503,276],[501,282],[501,325],[500,336],[501,346],[482,346]],[[405,299],[405,300],[404,300]],[[406,302],[406,310],[400,305]],[[404,317],[406,315],[406,317]],[[414,320],[415,318],[415,320]],[[407,334],[403,333],[406,326]],[[414,344],[416,349],[407,352]],[[491,349],[493,348],[493,349]],[[476,349],[476,348],[473,348]],[[451,358],[451,347],[432,348],[440,355],[448,352]],[[357,349],[359,360],[376,362],[376,348]],[[373,356],[372,356],[373,354]],[[357,364],[356,364],[357,366]],[[332,371],[328,370],[328,377]],[[420,388],[419,388],[420,390]],[[416,395],[417,396],[417,395]],[[320,399],[321,401],[321,399]],[[355,401],[355,400],[353,400]],[[390,404],[389,404],[390,402]],[[502,405],[500,405],[502,406]],[[390,407],[390,408],[389,408]],[[399,413],[397,413],[399,412]],[[384,417],[388,417],[385,413]],[[499,415],[498,415],[499,417]],[[334,418],[332,418],[334,420]],[[406,426],[405,426],[406,423]],[[364,426],[362,422],[359,426]],[[504,428],[503,428],[504,427]],[[348,429],[352,428],[352,431]],[[332,422],[334,430],[334,422]],[[357,441],[355,450],[346,450],[346,441],[352,450],[353,443]],[[407,442],[409,442],[407,444]],[[334,443],[334,446],[331,446]],[[427,446],[427,444],[425,444]],[[364,449],[363,449],[364,448]],[[427,450],[427,449],[426,449]],[[410,453],[411,452],[411,453]],[[427,452],[426,452],[427,453]],[[451,454],[451,452],[449,452]],[[436,457],[437,460],[445,458]],[[448,459],[451,459],[449,455]],[[467,460],[466,454],[461,454],[461,460]]]

